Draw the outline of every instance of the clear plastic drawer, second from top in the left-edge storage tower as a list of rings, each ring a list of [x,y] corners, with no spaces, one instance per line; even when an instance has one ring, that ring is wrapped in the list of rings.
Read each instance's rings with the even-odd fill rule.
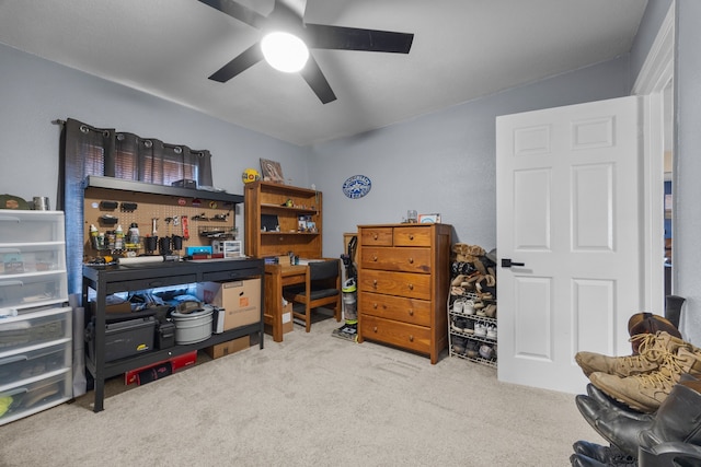
[[[2,276],[66,270],[62,243],[11,245],[0,243]]]

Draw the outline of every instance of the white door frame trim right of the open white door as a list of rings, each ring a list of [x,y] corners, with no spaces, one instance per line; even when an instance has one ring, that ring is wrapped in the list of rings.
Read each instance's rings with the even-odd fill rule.
[[[643,62],[631,90],[643,96],[643,304],[664,314],[664,90],[674,79],[676,0]],[[673,212],[674,231],[674,212]],[[662,249],[662,250],[660,250]],[[674,255],[674,249],[673,249]],[[673,258],[674,265],[674,258]],[[674,271],[674,269],[673,269]]]

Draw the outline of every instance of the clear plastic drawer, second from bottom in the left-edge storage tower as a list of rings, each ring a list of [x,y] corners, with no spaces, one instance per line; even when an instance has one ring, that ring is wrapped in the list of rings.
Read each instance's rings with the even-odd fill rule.
[[[0,387],[36,378],[71,365],[72,341],[32,346],[14,352],[0,352]]]

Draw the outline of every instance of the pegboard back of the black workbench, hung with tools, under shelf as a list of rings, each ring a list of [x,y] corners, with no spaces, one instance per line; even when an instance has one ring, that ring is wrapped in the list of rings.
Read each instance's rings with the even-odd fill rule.
[[[127,182],[103,187],[92,177],[84,190],[84,257],[176,255],[215,240],[235,240],[237,195]],[[117,186],[122,182],[114,182]],[[156,192],[147,192],[149,189]]]

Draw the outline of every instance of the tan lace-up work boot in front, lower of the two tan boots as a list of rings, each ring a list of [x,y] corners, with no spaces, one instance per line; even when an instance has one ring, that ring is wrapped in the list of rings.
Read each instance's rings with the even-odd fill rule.
[[[701,376],[701,350],[680,347],[676,354],[663,358],[659,369],[647,374],[628,377],[606,373],[591,373],[589,380],[596,387],[632,409],[652,413],[679,382],[682,374]]]

